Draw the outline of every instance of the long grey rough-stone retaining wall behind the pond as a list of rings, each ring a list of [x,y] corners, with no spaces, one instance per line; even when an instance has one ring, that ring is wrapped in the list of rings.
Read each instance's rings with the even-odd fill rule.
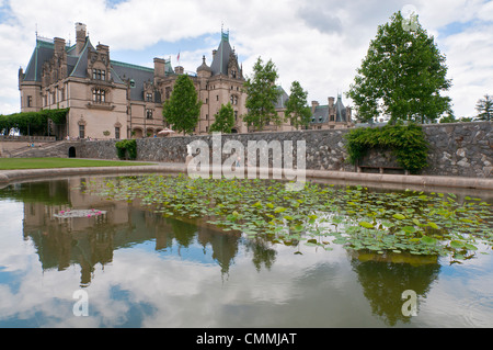
[[[431,145],[428,163],[423,176],[455,176],[470,178],[493,178],[493,122],[432,124],[423,127]],[[222,145],[228,140],[239,140],[246,149],[249,140],[296,143],[305,140],[307,146],[306,168],[310,170],[349,171],[356,168],[347,162],[344,135],[347,129],[300,131],[287,133],[231,134],[222,136]],[[213,136],[176,136],[137,140],[137,160],[183,163],[186,146],[194,140],[204,140],[211,149]],[[78,147],[78,157],[117,159],[115,142],[83,142]],[[229,155],[223,155],[222,159]],[[270,157],[272,163],[272,155]],[[388,151],[372,150],[365,162],[375,166],[395,166]]]

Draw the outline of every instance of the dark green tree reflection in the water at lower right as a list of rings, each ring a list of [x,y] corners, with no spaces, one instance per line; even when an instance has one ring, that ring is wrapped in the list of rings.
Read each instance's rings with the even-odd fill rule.
[[[355,258],[351,264],[358,274],[358,281],[372,313],[380,316],[386,324],[394,326],[398,321],[410,321],[410,317],[402,314],[402,305],[405,303],[402,293],[412,290],[419,298],[426,297],[432,283],[438,278],[440,266],[436,259],[432,261],[415,264],[402,261],[389,262],[383,259],[360,261]]]

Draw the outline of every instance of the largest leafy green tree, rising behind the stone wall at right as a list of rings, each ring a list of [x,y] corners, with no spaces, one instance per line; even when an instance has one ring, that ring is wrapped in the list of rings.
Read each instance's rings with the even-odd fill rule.
[[[390,123],[425,123],[451,112],[450,98],[440,97],[451,87],[445,56],[417,16],[413,20],[414,25],[405,25],[401,12],[394,13],[370,42],[347,93],[363,122],[385,114]]]

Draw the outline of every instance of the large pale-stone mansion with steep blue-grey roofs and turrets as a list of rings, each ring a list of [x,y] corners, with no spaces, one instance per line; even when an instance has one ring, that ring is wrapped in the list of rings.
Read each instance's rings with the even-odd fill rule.
[[[37,37],[31,60],[19,70],[21,112],[70,109],[66,125],[58,125],[56,136],[98,139],[141,138],[156,136],[165,125],[162,104],[170,98],[183,67],[172,67],[171,60],[154,58],[153,68],[112,60],[110,47],[95,47],[82,23],[76,24],[76,44],[62,38]],[[188,72],[186,72],[188,74]],[[195,134],[208,134],[222,104],[233,106],[236,125],[232,132],[248,133],[242,121],[246,114],[243,69],[231,48],[229,34],[222,33],[210,66],[203,57],[196,74],[188,74],[203,101]],[[282,89],[282,88],[279,88]],[[276,103],[284,113],[288,95],[283,90]],[[332,99],[332,100],[331,100]],[[331,103],[332,102],[332,103]],[[311,128],[352,126],[351,109],[341,99],[320,106],[312,102]],[[290,131],[290,125],[270,129]]]

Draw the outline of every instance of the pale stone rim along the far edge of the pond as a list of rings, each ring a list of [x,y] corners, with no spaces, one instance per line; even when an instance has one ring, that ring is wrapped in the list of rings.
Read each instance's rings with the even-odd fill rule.
[[[210,168],[210,173],[214,172]],[[216,169],[218,170],[218,169]],[[220,169],[219,169],[220,170]],[[260,171],[261,169],[257,169]],[[270,177],[276,169],[267,169]],[[57,168],[57,169],[25,169],[0,171],[0,184],[9,184],[25,180],[53,179],[73,176],[124,176],[138,173],[187,173],[185,163],[157,163],[150,166],[129,167],[88,167],[88,168]],[[246,173],[246,172],[245,172]],[[282,172],[280,172],[282,173]],[[461,177],[433,177],[433,176],[402,176],[381,173],[360,173],[345,171],[306,170],[306,179],[324,179],[337,181],[351,181],[358,183],[387,183],[408,184],[431,188],[461,188],[493,191],[493,179],[461,178]],[[295,179],[296,181],[296,179]]]

